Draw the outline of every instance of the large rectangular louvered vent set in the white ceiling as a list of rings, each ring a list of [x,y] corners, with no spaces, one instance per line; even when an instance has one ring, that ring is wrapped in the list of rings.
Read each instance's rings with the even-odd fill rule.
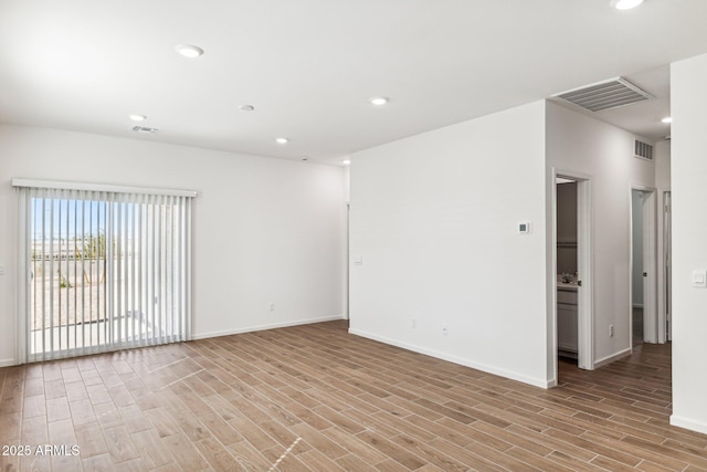
[[[590,112],[619,108],[620,106],[653,99],[654,96],[633,85],[625,78],[612,78],[555,95]]]

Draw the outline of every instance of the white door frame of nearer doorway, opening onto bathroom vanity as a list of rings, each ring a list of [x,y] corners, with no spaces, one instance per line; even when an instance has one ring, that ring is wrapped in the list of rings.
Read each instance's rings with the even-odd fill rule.
[[[552,231],[551,243],[551,296],[550,313],[553,337],[551,355],[553,357],[553,378],[557,379],[557,178],[577,181],[577,272],[582,281],[578,290],[578,353],[577,365],[581,369],[594,369],[594,258],[593,258],[593,212],[591,176],[552,168]]]

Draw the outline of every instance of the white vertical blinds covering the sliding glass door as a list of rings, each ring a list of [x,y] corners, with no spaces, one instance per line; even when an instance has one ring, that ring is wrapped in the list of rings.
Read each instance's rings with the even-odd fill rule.
[[[194,192],[13,186],[21,361],[190,338]]]

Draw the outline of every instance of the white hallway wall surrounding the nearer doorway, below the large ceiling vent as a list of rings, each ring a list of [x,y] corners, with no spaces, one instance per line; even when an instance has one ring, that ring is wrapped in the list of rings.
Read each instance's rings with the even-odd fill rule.
[[[631,186],[654,187],[655,167],[633,157],[632,134],[551,102],[547,103],[546,146],[548,199],[553,167],[590,178],[594,361],[601,364],[631,349]],[[613,337],[609,325],[614,325]]]

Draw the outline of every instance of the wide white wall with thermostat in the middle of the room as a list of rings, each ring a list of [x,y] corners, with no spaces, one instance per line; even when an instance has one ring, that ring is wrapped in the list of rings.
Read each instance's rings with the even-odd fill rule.
[[[538,102],[355,154],[351,333],[547,386],[544,140]]]

